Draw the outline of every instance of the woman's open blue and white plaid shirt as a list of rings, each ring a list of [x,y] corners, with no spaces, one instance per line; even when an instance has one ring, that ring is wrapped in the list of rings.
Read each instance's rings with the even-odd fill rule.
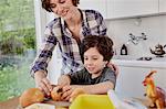
[[[86,35],[106,35],[105,22],[97,11],[80,11],[83,19],[80,32],[81,41]],[[63,19],[56,18],[51,21],[45,29],[44,36],[44,45],[31,68],[32,76],[37,70],[48,73],[48,63],[52,57],[55,45],[59,45],[62,55],[62,74],[73,73],[83,68],[79,45]]]

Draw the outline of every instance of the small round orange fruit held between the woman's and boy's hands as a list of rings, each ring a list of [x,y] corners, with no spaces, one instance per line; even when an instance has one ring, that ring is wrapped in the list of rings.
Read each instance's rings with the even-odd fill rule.
[[[60,101],[62,96],[62,88],[60,86],[55,86],[51,91],[51,98],[54,101]]]

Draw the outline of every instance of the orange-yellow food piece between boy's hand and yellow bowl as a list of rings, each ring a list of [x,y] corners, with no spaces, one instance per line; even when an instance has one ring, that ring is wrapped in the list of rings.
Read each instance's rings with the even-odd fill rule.
[[[82,88],[75,88],[71,95],[70,102],[72,102],[79,95],[86,94]]]

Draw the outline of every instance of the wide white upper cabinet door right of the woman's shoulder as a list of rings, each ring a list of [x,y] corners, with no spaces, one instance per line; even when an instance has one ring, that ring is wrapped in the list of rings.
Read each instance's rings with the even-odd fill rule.
[[[158,12],[158,0],[107,0],[107,18],[128,18]]]

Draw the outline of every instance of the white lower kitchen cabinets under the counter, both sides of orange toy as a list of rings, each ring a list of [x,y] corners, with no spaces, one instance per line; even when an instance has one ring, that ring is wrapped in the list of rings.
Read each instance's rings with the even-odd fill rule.
[[[155,85],[166,89],[166,68],[129,66],[118,66],[118,68],[120,75],[117,77],[115,90],[121,96],[145,98],[145,87],[142,81],[151,70],[157,70],[157,74],[153,75]]]

